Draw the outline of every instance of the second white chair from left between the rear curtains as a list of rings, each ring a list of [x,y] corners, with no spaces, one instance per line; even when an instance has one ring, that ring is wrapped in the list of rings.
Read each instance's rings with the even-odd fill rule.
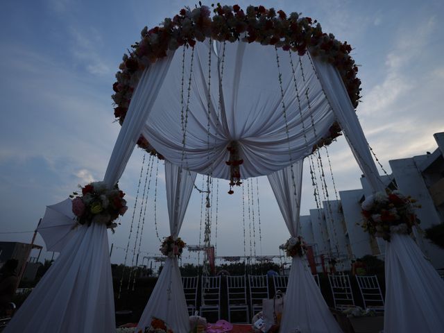
[[[207,312],[216,312],[217,320],[221,318],[221,277],[220,276],[202,276],[202,302],[200,305],[200,316]]]

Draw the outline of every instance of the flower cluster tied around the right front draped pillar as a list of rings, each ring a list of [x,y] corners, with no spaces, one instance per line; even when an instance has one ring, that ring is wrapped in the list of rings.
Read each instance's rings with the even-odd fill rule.
[[[416,200],[404,196],[400,191],[377,192],[368,196],[361,204],[364,216],[362,227],[375,237],[390,241],[393,232],[410,234],[413,225],[417,225],[414,205]]]

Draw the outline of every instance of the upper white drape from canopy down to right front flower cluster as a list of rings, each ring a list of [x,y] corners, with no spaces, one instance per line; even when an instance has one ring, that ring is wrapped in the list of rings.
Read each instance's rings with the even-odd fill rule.
[[[345,139],[347,139],[362,173],[364,173],[373,191],[384,191],[384,183],[379,178],[375,162],[368,149],[366,137],[339,71],[327,62],[317,58],[312,58],[312,60],[336,121],[343,130]]]

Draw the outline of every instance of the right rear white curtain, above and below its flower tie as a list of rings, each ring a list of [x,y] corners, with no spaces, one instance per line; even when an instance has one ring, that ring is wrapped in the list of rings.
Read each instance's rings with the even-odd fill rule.
[[[300,160],[292,167],[268,175],[291,237],[297,237],[300,230],[302,164],[303,160]],[[309,333],[342,332],[307,264],[298,256],[291,262],[286,295],[280,332],[293,332],[296,328]]]

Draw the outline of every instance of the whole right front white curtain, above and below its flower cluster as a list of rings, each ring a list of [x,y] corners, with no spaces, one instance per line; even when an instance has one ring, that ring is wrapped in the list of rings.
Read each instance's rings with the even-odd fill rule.
[[[384,191],[361,125],[339,72],[313,59],[314,66],[345,138],[373,192]],[[384,332],[444,332],[444,283],[407,234],[386,242]]]

